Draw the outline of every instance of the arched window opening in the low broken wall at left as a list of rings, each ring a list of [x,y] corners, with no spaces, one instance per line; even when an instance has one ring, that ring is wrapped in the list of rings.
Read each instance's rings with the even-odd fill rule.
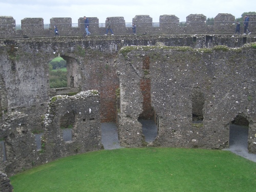
[[[72,141],[72,129],[75,124],[75,112],[66,113],[60,118],[59,126],[62,130],[63,141]]]

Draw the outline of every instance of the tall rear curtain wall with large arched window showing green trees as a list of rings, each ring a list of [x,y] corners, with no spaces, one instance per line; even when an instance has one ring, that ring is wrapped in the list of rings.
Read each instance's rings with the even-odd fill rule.
[[[41,130],[42,111],[46,110],[51,96],[95,89],[101,93],[101,121],[115,122],[116,89],[119,87],[115,60],[122,47],[156,45],[192,48],[211,48],[218,45],[241,47],[246,42],[254,41],[253,36],[223,35],[5,39],[0,44],[1,115],[24,112],[30,116],[32,129]],[[49,88],[48,63],[58,55],[67,61],[69,85],[63,92]]]

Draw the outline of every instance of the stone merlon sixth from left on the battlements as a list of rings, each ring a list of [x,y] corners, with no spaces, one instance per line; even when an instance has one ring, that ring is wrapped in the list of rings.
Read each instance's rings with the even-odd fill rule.
[[[153,30],[153,19],[150,15],[136,15],[133,23],[136,25],[136,33],[145,34]]]

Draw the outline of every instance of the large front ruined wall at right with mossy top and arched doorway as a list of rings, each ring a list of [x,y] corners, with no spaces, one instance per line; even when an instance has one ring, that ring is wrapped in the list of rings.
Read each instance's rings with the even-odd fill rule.
[[[148,57],[151,104],[159,119],[155,146],[227,147],[229,123],[237,115],[243,115],[249,121],[249,152],[256,153],[255,53],[256,49],[250,46],[233,50],[222,46],[210,50],[188,47],[120,50],[117,72],[121,144],[143,146],[138,123],[143,101],[139,84],[145,78],[143,60]],[[194,102],[196,97],[201,99]],[[202,113],[193,102],[202,106]],[[203,120],[194,122],[193,113],[202,115]]]

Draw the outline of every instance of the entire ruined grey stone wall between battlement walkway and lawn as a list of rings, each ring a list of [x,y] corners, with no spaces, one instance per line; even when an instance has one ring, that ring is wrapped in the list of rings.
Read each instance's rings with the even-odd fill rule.
[[[0,170],[9,176],[99,150],[100,122],[118,122],[123,146],[143,146],[138,118],[157,120],[155,146],[222,148],[228,146],[228,123],[243,115],[250,123],[249,150],[255,153],[255,49],[246,42],[255,42],[254,36],[2,40]],[[58,55],[67,61],[69,82],[60,90],[49,87],[48,63]],[[87,90],[97,91],[88,95]],[[193,122],[193,114],[203,122]]]

